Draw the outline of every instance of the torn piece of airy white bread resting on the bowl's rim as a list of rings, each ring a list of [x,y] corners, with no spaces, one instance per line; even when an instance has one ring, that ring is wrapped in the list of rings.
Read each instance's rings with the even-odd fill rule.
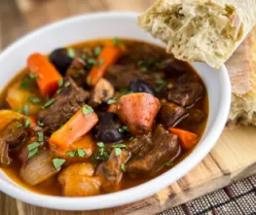
[[[219,68],[256,23],[256,0],[159,0],[138,25],[176,58]]]

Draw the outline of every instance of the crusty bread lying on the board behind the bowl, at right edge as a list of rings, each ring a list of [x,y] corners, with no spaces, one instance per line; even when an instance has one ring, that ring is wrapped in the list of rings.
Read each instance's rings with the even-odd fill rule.
[[[256,125],[256,27],[226,66],[233,92],[229,125]]]

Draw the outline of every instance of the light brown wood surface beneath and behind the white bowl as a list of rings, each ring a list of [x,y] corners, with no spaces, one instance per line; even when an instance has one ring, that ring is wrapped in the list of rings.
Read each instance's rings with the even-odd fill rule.
[[[98,11],[143,11],[154,0],[0,0],[0,50],[26,32],[60,18]],[[0,194],[1,215],[156,214],[256,173],[256,128],[225,130],[195,169],[153,197],[118,208],[90,212],[57,211]]]

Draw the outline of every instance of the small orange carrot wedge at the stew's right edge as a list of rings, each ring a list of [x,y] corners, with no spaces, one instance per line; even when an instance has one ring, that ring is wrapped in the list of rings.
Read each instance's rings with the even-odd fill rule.
[[[198,134],[189,132],[187,130],[170,127],[168,129],[171,133],[177,134],[182,143],[182,146],[186,150],[190,150],[195,146],[198,141]]]

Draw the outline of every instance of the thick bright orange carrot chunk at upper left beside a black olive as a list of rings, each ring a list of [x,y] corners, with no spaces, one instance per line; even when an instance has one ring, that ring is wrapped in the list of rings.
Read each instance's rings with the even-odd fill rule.
[[[62,79],[55,66],[42,54],[31,54],[27,59],[27,66],[38,76],[36,81],[41,94],[53,95],[58,88],[58,80]]]

